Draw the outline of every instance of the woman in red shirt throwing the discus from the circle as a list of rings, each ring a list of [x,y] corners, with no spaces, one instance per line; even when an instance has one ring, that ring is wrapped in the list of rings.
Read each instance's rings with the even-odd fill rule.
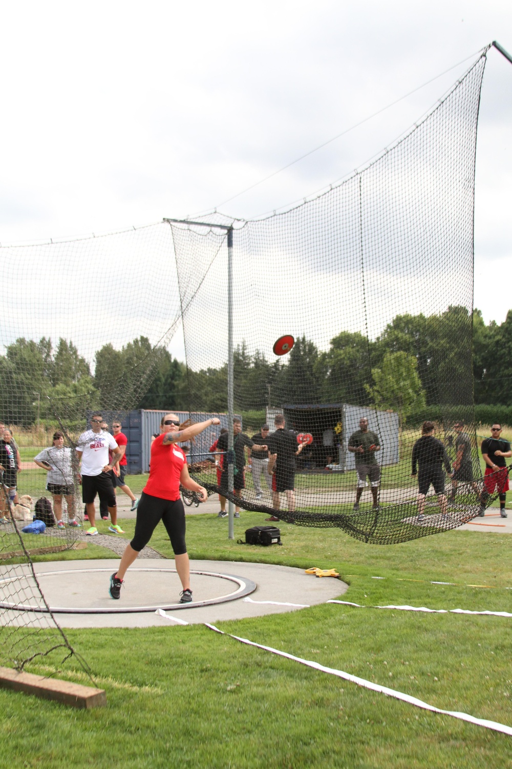
[[[220,424],[220,419],[206,419],[204,422],[190,424],[180,430],[180,420],[175,414],[166,414],[160,427],[161,433],[151,445],[150,476],[140,495],[137,507],[134,538],[127,544],[121,564],[111,576],[109,593],[111,598],[120,598],[124,574],[130,564],[133,564],[140,551],[147,543],[160,521],[163,521],[170,544],[174,551],[176,571],[183,590],[180,593],[180,604],[192,601],[190,590],[190,564],[185,544],[185,508],[180,498],[180,484],[195,491],[200,501],[206,502],[208,494],[190,478],[185,452],[177,444],[190,441],[212,424]]]

